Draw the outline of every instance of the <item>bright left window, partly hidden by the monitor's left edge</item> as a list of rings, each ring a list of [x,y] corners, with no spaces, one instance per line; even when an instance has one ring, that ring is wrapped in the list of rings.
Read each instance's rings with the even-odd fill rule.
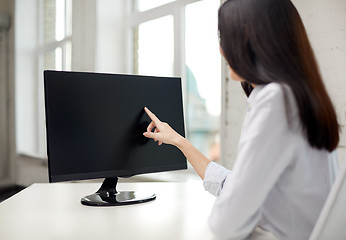
[[[43,70],[71,70],[72,0],[16,5],[17,151],[46,157]],[[24,120],[25,119],[25,120]]]

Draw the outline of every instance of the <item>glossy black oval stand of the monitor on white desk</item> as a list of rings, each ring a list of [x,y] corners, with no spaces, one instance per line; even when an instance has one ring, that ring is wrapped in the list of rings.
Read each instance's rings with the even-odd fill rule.
[[[106,178],[100,189],[91,195],[83,197],[81,203],[88,206],[120,206],[152,201],[155,194],[143,195],[139,192],[118,192],[118,178]]]

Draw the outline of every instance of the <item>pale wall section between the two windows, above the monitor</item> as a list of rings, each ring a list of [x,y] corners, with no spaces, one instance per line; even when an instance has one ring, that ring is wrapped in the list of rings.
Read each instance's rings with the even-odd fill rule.
[[[124,1],[74,0],[72,70],[123,73]]]

